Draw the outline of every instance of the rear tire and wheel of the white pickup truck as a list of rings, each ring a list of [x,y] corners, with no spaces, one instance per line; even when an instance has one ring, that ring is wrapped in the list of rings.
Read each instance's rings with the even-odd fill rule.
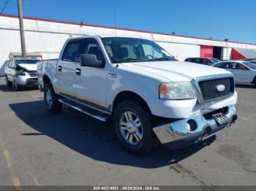
[[[51,84],[45,85],[44,89],[45,106],[49,112],[59,113],[62,108],[62,104],[59,102],[59,96],[54,92]]]

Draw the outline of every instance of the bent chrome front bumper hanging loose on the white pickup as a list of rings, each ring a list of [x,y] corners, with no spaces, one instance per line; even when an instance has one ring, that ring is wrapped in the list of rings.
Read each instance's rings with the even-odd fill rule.
[[[213,136],[219,130],[229,127],[230,123],[237,119],[235,106],[227,107],[225,117],[228,118],[228,122],[224,125],[218,125],[214,118],[206,119],[204,114],[200,113],[187,119],[161,125],[153,128],[153,130],[159,141],[165,145],[165,147],[178,149],[208,139],[208,137]],[[189,130],[187,128],[187,122],[189,120],[195,122],[195,130]]]

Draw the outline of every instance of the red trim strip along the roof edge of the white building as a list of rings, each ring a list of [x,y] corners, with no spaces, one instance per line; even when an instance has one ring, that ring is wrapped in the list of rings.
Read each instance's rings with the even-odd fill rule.
[[[0,14],[0,16],[18,18],[18,15],[7,14],[7,13],[2,13],[2,14]],[[206,39],[206,38],[195,37],[195,36],[167,34],[167,33],[157,32],[157,31],[145,31],[145,30],[130,29],[130,28],[120,28],[120,27],[113,27],[113,26],[100,26],[100,25],[89,24],[89,23],[82,23],[82,22],[78,23],[78,22],[72,22],[72,21],[66,21],[66,20],[55,20],[55,19],[42,18],[42,17],[24,16],[23,18],[24,19],[28,19],[28,20],[40,20],[40,21],[46,21],[46,22],[72,24],[72,25],[78,25],[78,26],[94,26],[94,27],[99,27],[99,28],[110,28],[110,29],[118,29],[118,30],[124,30],[124,31],[136,31],[136,32],[142,32],[142,33],[149,33],[149,34],[162,34],[162,35],[167,35],[167,36],[180,36],[180,37],[184,37],[184,38],[204,39],[204,40],[216,41],[216,42],[232,42],[232,41],[225,41],[225,40],[218,40],[218,39]],[[250,43],[245,43],[245,42],[233,42],[233,43],[250,44]],[[252,43],[251,45],[256,45],[256,44]]]

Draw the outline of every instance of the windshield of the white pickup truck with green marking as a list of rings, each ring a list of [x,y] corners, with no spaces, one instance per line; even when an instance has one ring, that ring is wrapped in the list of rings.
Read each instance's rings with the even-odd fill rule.
[[[112,63],[176,61],[158,44],[146,39],[102,38]]]

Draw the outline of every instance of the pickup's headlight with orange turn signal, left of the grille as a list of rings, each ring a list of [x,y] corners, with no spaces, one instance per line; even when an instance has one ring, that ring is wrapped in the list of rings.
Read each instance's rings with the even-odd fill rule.
[[[197,98],[191,82],[162,83],[159,86],[160,99],[192,99]]]

